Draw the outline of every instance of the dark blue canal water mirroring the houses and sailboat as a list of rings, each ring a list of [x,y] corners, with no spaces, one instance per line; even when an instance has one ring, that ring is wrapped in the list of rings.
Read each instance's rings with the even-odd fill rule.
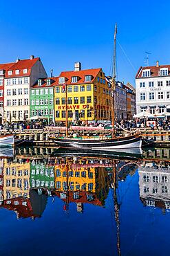
[[[0,255],[169,255],[169,149],[0,151]]]

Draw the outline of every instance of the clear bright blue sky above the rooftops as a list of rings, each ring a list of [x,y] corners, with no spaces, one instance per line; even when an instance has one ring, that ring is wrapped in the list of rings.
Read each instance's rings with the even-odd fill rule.
[[[0,63],[41,57],[50,75],[102,67],[110,75],[114,24],[118,24],[118,79],[134,84],[138,68],[156,60],[170,64],[169,1],[2,1]]]

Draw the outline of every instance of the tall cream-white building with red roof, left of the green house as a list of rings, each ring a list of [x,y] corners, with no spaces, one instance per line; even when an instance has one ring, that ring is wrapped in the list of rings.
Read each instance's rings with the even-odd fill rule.
[[[26,120],[30,116],[30,87],[47,77],[39,57],[17,60],[6,71],[4,83],[4,116],[8,121]]]

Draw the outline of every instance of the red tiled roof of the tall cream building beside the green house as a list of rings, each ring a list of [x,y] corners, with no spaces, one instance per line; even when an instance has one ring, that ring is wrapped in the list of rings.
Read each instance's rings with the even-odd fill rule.
[[[12,73],[12,75],[8,75],[8,72],[6,73],[6,77],[21,77],[21,76],[28,76],[31,73],[31,68],[34,66],[34,64],[40,60],[39,57],[36,57],[32,60],[19,60],[18,62],[14,63],[12,66],[8,68],[8,71],[16,71],[19,70],[19,74],[15,74],[15,72]],[[23,73],[23,69],[28,69],[28,73]]]

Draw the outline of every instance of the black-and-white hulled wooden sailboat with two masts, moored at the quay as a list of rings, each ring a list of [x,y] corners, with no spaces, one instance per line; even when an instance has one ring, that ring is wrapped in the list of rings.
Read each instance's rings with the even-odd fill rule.
[[[116,137],[115,136],[115,111],[114,111],[114,98],[115,98],[115,87],[116,87],[116,33],[117,25],[114,31],[114,63],[113,63],[113,75],[111,80],[111,121],[112,121],[112,138],[70,138],[68,136],[68,126],[67,126],[67,111],[66,111],[66,136],[64,138],[51,137],[52,140],[59,147],[65,148],[80,148],[80,149],[92,149],[92,150],[123,150],[126,152],[127,149],[141,148],[142,147],[142,137],[139,134],[126,136],[126,137]],[[67,86],[66,86],[66,104],[67,104]],[[67,109],[67,106],[66,106]]]

